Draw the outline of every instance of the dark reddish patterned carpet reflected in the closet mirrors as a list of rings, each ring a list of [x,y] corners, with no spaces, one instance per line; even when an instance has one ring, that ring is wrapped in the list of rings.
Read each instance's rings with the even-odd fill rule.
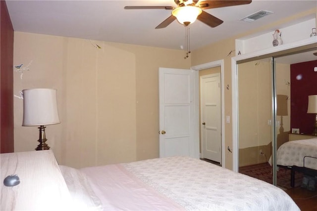
[[[273,183],[272,167],[268,163],[240,167],[239,172],[263,180],[270,184]],[[303,174],[296,172],[295,187],[300,186],[302,184],[302,180]],[[279,170],[277,171],[277,186],[286,190],[292,188],[290,169],[279,168]]]

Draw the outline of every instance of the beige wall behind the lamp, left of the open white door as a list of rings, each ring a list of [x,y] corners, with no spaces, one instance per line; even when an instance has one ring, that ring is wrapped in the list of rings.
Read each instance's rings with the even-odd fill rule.
[[[14,93],[57,89],[61,124],[47,126],[59,164],[75,168],[159,156],[159,67],[190,68],[183,51],[15,32],[14,64],[28,64]],[[38,129],[22,127],[23,100],[14,98],[15,151],[31,151]]]

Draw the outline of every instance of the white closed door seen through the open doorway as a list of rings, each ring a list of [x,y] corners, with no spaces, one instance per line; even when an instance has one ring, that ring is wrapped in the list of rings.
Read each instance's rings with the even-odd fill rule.
[[[201,138],[203,157],[221,164],[220,74],[201,77]]]

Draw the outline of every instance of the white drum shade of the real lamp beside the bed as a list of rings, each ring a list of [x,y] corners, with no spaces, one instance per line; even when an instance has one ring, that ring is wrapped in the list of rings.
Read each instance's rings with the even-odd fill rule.
[[[59,124],[56,89],[33,88],[23,91],[22,126]]]

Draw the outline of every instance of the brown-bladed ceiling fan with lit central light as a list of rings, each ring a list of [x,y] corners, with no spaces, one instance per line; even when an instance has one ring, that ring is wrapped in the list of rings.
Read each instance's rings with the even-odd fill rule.
[[[203,9],[219,8],[249,4],[252,0],[174,0],[174,6],[125,6],[124,9],[166,9],[172,10],[172,15],[161,22],[156,29],[167,27],[174,20],[188,26],[196,19],[202,21],[210,27],[216,27],[223,23],[219,18],[205,12]]]

